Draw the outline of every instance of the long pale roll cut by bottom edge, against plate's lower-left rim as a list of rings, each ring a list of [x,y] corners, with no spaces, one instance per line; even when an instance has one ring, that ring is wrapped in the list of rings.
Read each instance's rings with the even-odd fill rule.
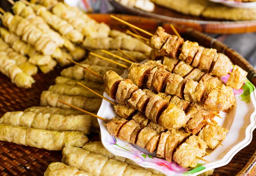
[[[125,162],[109,159],[106,156],[73,146],[67,146],[62,150],[62,162],[64,164],[76,167],[94,176],[151,176],[152,172],[142,167],[128,165]],[[154,174],[157,176],[157,174]]]

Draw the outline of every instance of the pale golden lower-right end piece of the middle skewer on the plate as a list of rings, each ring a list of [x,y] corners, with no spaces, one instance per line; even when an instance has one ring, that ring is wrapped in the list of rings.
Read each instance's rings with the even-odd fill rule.
[[[183,127],[189,118],[185,115],[185,112],[177,108],[174,104],[169,104],[168,108],[163,111],[159,118],[159,125],[171,130],[172,128]]]

